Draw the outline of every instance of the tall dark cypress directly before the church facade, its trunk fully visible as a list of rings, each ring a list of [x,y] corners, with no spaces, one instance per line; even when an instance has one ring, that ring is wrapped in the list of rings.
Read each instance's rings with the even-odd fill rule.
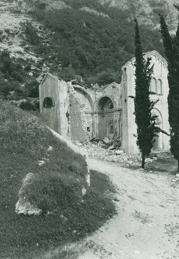
[[[159,127],[155,127],[156,115],[152,116],[151,111],[154,105],[158,102],[150,100],[150,95],[153,93],[149,90],[150,81],[153,73],[153,66],[150,67],[151,58],[148,57],[147,61],[143,58],[140,34],[138,28],[138,22],[135,18],[135,97],[129,96],[134,99],[134,114],[135,123],[137,125],[137,145],[142,153],[142,168],[145,166],[145,156],[148,156],[155,142],[154,136],[158,136],[156,133],[165,131],[161,130]]]

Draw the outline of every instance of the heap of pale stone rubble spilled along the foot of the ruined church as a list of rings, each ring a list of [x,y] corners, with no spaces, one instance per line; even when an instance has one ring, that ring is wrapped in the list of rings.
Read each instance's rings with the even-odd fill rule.
[[[79,141],[72,141],[78,147],[81,147],[85,152],[88,153],[89,157],[96,157],[99,160],[119,163],[125,166],[138,167],[141,166],[141,157],[137,154],[128,155],[123,150],[106,150],[105,148],[98,147],[92,142],[80,143]],[[154,160],[150,158],[145,159],[145,165],[152,163]]]

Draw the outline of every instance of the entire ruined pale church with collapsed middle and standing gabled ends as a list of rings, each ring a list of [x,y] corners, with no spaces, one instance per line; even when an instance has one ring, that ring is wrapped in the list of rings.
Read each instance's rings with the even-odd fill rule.
[[[152,114],[157,115],[156,126],[169,133],[167,61],[157,52],[144,54],[151,57],[154,72],[150,84],[151,100],[159,99]],[[89,138],[116,139],[121,137],[125,153],[139,152],[136,145],[133,99],[135,96],[135,58],[122,67],[121,84],[111,83],[100,90],[91,90],[47,73],[39,85],[40,112],[47,126],[69,140],[87,141]],[[169,149],[169,137],[159,133],[152,150]]]

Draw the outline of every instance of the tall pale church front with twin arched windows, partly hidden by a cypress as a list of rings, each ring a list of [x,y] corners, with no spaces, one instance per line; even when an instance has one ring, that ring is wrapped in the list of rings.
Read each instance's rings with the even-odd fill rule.
[[[154,73],[152,78],[155,78],[156,83],[162,82],[162,93],[159,93],[159,84],[156,84],[156,94],[151,96],[151,100],[155,101],[159,99],[159,102],[155,105],[153,113],[159,115],[159,123],[156,126],[160,126],[161,129],[169,133],[168,123],[168,80],[167,80],[167,62],[156,51],[147,52],[144,58],[151,57],[151,66],[154,64]],[[125,153],[133,154],[138,153],[139,148],[136,145],[136,138],[133,134],[137,134],[137,126],[135,124],[134,102],[133,99],[128,96],[135,96],[135,59],[130,60],[122,67],[122,148]],[[159,134],[159,146],[160,149],[169,149],[169,137],[163,133]]]

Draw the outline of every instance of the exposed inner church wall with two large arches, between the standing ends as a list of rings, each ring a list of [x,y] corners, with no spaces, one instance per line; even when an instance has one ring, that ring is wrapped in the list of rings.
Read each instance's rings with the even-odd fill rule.
[[[115,129],[117,124],[115,139],[120,136],[122,123],[121,85],[114,82],[101,90],[85,89],[79,85],[73,85],[73,87],[77,91],[80,101],[84,103],[83,112],[86,131],[90,127],[88,134],[96,138],[106,136],[112,138],[111,126]],[[113,108],[111,109],[107,105],[110,102],[113,103]],[[120,112],[121,116],[118,117]]]

